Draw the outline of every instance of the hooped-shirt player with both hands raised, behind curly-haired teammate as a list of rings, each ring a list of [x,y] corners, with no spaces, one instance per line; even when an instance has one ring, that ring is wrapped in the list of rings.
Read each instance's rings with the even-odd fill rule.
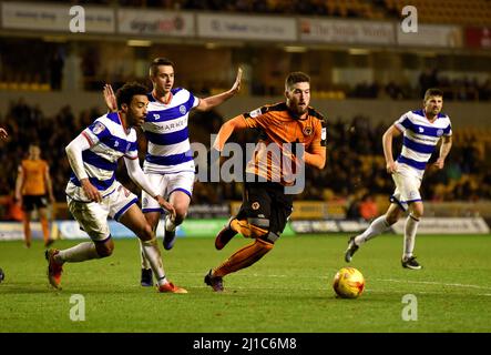
[[[150,80],[153,89],[149,94],[149,114],[142,129],[147,140],[147,154],[143,171],[152,186],[168,199],[175,215],[166,215],[164,248],[170,250],[175,242],[175,229],[187,214],[195,178],[194,156],[191,151],[187,120],[190,111],[211,110],[234,97],[241,89],[242,69],[237,71],[231,90],[198,99],[183,88],[174,87],[174,63],[166,58],[156,58],[150,65]],[[104,100],[110,110],[114,103],[111,87],[106,85]],[[156,231],[164,210],[142,191],[142,211],[152,229]],[[142,286],[152,285],[152,272],[142,255]]]

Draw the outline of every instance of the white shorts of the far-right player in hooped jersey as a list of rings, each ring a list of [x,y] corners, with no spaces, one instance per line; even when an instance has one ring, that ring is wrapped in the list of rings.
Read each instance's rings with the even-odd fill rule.
[[[421,201],[419,192],[421,176],[415,169],[406,164],[398,164],[398,170],[392,174],[392,180],[396,183],[396,190],[390,196],[392,203],[397,203],[403,211],[407,211],[410,202]]]

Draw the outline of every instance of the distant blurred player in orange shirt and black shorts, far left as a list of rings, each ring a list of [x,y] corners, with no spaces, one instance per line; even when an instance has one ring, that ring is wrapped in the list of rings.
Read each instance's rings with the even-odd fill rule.
[[[49,199],[49,201],[48,201]],[[29,145],[29,156],[19,165],[16,181],[16,200],[24,211],[24,240],[25,246],[31,246],[31,219],[33,211],[38,210],[41,222],[44,246],[53,243],[48,226],[48,203],[54,202],[51,185],[50,166],[41,159],[41,149],[37,144]]]

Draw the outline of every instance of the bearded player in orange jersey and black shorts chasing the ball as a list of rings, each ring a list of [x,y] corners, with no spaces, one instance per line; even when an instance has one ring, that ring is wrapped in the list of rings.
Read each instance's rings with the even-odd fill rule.
[[[305,176],[298,174],[303,165],[323,169],[326,164],[325,120],[309,106],[310,78],[303,72],[288,74],[285,98],[285,102],[225,122],[214,142],[213,148],[222,152],[233,132],[262,131],[245,170],[241,210],[218,232],[215,247],[222,250],[237,233],[255,241],[209,270],[205,283],[215,292],[224,290],[225,275],[253,265],[273,248],[291,214],[294,194],[300,192],[289,187],[298,187],[300,180],[305,183]]]

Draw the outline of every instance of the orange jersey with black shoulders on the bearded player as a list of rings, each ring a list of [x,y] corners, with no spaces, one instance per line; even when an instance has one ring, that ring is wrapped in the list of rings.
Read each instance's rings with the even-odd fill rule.
[[[243,116],[248,128],[262,131],[253,159],[247,163],[247,173],[293,185],[300,163],[297,144],[303,144],[305,152],[325,154],[325,119],[313,108],[308,108],[304,119],[295,116],[286,102],[265,105]],[[324,166],[324,162],[320,165]]]

